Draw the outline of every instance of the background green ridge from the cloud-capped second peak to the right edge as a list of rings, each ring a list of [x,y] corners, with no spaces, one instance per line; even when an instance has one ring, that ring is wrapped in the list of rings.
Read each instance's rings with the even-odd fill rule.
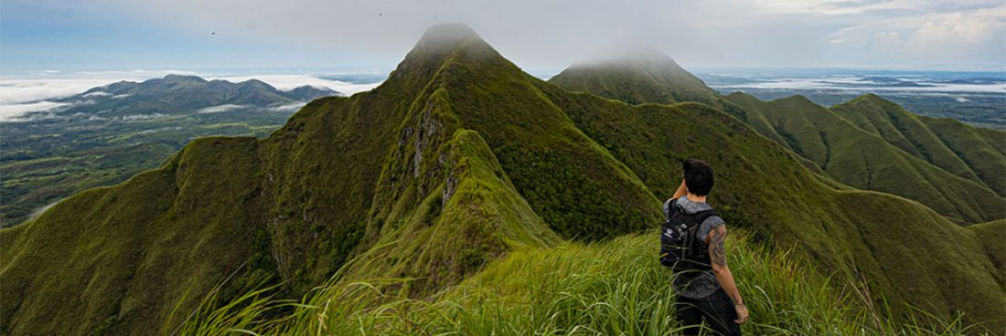
[[[585,90],[630,103],[668,103],[670,101],[664,98],[666,96],[689,96],[684,92],[712,91],[701,81],[679,79],[688,78],[683,74],[687,71],[681,69],[670,57],[653,57],[649,51],[642,53],[643,56],[629,56],[622,61],[624,64],[634,64],[633,66],[618,65],[618,61],[595,67],[574,65],[549,79],[549,82],[566,89]],[[649,78],[655,73],[663,74],[661,80],[620,79],[620,76]],[[674,81],[679,83],[661,83]],[[618,87],[619,91],[615,92],[607,87]],[[626,100],[625,97],[632,99]],[[854,101],[879,99],[875,95],[872,97]],[[986,129],[980,132],[972,126],[944,120],[941,131],[953,134],[944,135],[943,138],[947,140],[940,139],[928,126],[910,128],[924,129],[928,136],[927,147],[931,149],[927,151],[920,147],[923,151],[919,151],[900,132],[897,133],[901,137],[900,141],[888,141],[876,130],[876,126],[873,126],[872,132],[861,128],[867,115],[876,114],[861,106],[865,104],[850,102],[837,105],[836,110],[832,111],[802,96],[762,101],[742,92],[733,92],[722,98],[700,97],[695,101],[706,102],[712,99],[719,99],[721,102],[711,105],[740,118],[766,137],[806,157],[810,160],[805,162],[806,166],[815,172],[821,170],[841,184],[920,202],[961,224],[1006,217],[1006,199],[1002,197],[999,192],[1001,187],[997,185],[1004,179],[1001,172],[1006,171],[1006,157],[999,155],[1006,150],[1006,145],[1001,145],[1002,140],[989,140],[1006,138],[1001,132]],[[897,120],[918,119],[896,104],[883,102],[882,106],[893,110],[884,112],[884,115],[900,116],[895,121],[884,119],[888,120],[886,125],[890,129],[898,129],[892,125],[894,123],[901,128],[905,127],[902,123],[910,124],[908,121]],[[914,121],[918,122],[920,121]],[[983,135],[977,136],[978,134]],[[998,150],[992,148],[995,145],[999,145]],[[931,151],[933,154],[929,154]],[[959,153],[955,154],[956,152]],[[982,174],[975,174],[971,166],[980,167]],[[993,185],[997,187],[992,187]]]

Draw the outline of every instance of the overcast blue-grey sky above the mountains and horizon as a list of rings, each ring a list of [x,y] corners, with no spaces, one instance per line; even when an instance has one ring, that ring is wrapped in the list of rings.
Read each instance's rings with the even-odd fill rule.
[[[1003,0],[4,0],[0,74],[386,71],[439,22],[529,71],[645,43],[688,67],[1003,70]]]

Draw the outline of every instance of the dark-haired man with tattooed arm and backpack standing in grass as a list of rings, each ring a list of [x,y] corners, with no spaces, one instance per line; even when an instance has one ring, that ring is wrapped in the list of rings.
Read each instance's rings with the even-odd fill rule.
[[[661,263],[676,274],[678,321],[685,335],[697,335],[702,320],[720,335],[740,335],[747,308],[726,266],[726,225],[705,203],[712,169],[697,159],[684,162],[684,181],[664,203]]]

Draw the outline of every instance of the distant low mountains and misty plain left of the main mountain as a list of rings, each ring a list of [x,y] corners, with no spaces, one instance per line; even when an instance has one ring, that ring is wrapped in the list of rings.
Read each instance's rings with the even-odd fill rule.
[[[0,122],[0,224],[16,225],[76,192],[155,167],[199,136],[265,136],[307,101],[337,94],[167,75],[58,99],[63,105]]]

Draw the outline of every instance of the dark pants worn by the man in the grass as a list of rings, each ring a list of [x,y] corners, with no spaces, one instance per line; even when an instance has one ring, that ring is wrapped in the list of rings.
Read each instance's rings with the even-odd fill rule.
[[[701,299],[679,295],[675,308],[678,311],[678,321],[688,326],[684,330],[685,335],[698,335],[703,318],[706,326],[715,332],[714,335],[740,335],[740,326],[733,323],[737,312],[733,310],[733,302],[722,289]]]

